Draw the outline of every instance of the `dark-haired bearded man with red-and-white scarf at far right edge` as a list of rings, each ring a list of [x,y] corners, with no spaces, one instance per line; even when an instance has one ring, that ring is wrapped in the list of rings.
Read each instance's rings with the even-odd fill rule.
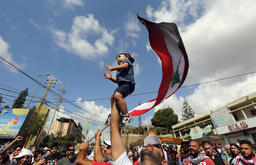
[[[233,159],[232,165],[255,165],[256,154],[255,149],[250,141],[241,140],[239,142],[240,154]]]

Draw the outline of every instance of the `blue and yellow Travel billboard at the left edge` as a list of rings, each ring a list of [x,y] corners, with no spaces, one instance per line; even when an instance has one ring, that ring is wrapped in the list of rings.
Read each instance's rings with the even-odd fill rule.
[[[32,110],[24,108],[0,108],[0,138],[16,138],[22,135],[32,116]]]

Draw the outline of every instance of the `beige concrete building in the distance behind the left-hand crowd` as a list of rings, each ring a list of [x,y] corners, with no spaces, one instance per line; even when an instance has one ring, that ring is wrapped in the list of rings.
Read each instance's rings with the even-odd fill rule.
[[[81,123],[75,122],[73,119],[60,118],[56,122],[52,123],[49,131],[49,135],[53,133],[55,137],[63,137],[74,135],[77,142],[82,142],[83,128]]]

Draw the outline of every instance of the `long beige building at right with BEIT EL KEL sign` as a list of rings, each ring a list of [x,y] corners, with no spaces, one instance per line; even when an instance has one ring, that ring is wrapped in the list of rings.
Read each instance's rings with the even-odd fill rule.
[[[246,139],[256,143],[256,92],[219,108],[173,125],[175,138],[238,143]],[[189,137],[190,136],[190,137]]]

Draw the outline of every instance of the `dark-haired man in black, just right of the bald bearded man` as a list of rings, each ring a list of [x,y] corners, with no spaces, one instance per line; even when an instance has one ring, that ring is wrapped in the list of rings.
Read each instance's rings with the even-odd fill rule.
[[[206,153],[206,156],[209,156],[209,158],[217,165],[225,165],[224,161],[218,154],[213,154],[213,148],[211,147],[211,143],[208,141],[203,141],[202,146],[204,149],[204,153]]]

